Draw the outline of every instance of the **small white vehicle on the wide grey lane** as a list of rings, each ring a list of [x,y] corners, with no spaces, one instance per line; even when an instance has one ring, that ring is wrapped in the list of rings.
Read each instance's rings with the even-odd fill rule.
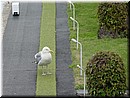
[[[12,15],[19,16],[20,14],[20,5],[19,2],[12,2]]]

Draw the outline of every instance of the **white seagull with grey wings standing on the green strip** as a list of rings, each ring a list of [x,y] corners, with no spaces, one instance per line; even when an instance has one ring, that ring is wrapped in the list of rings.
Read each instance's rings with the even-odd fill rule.
[[[51,74],[48,71],[48,64],[50,64],[51,61],[52,61],[51,52],[53,53],[53,51],[50,50],[49,47],[45,46],[42,49],[42,51],[36,53],[35,56],[34,56],[34,58],[36,60],[36,61],[34,61],[35,64],[38,64],[39,66],[42,66],[42,70],[43,70],[44,66],[46,67],[46,72],[44,72],[44,70],[43,70],[42,75]]]

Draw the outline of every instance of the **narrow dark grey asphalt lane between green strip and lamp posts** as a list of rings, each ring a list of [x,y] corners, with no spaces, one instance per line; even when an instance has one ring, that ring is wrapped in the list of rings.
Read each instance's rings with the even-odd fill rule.
[[[56,3],[56,85],[57,96],[76,96],[71,64],[67,3]]]

